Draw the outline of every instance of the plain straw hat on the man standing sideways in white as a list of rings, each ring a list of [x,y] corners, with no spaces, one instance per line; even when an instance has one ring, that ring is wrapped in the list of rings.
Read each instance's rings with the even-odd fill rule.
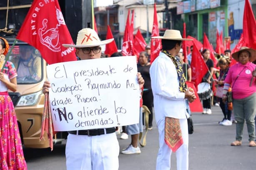
[[[170,39],[170,40],[186,40],[186,41],[192,41],[193,39],[188,38],[182,38],[181,32],[179,30],[166,30],[163,34],[163,36],[156,36],[151,38],[159,38],[159,39]]]

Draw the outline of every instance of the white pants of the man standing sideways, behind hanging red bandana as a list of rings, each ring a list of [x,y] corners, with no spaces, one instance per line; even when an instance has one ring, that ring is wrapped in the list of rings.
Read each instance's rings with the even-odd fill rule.
[[[156,159],[156,170],[170,170],[172,150],[164,141],[165,118],[158,121],[159,150]],[[177,170],[188,170],[188,122],[187,119],[180,119],[183,144],[176,151]]]

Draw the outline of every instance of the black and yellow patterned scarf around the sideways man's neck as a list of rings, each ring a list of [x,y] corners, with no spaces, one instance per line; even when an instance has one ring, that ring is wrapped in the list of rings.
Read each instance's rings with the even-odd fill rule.
[[[177,74],[178,74],[178,78],[179,78],[179,90],[180,92],[185,92],[186,91],[186,77],[185,77],[185,74],[183,72],[183,69],[182,69],[182,65],[181,65],[181,62],[178,61],[175,57],[173,57],[169,52],[167,52],[166,50],[162,50],[162,52],[164,54],[166,54],[168,57],[171,58],[171,60],[173,61],[173,64],[175,65],[176,67],[176,71],[177,71]]]

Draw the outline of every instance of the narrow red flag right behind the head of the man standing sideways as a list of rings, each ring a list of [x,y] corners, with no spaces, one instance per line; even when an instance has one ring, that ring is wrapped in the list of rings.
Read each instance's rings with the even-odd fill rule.
[[[156,3],[154,4],[154,20],[151,37],[159,36],[158,21],[156,15]],[[159,52],[162,48],[161,39],[151,38],[151,52],[150,52],[150,63],[158,57]]]

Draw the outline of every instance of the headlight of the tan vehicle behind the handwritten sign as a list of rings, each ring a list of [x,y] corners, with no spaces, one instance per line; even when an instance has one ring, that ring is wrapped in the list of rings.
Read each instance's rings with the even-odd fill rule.
[[[38,101],[38,96],[40,94],[42,94],[42,91],[21,96],[16,106],[33,106]]]

